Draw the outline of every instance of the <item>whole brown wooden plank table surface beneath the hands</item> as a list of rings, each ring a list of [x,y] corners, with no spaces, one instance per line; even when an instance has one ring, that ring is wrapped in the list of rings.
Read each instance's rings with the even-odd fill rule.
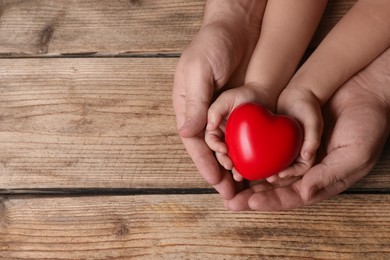
[[[331,1],[312,46],[354,1]],[[226,211],[176,133],[204,0],[0,1],[2,259],[390,259],[390,145],[347,192]]]

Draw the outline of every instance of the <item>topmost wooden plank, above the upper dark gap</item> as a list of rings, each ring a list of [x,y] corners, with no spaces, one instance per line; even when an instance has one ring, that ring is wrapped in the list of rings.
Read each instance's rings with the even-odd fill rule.
[[[312,47],[356,0],[329,1]],[[205,0],[0,1],[0,56],[181,52]]]

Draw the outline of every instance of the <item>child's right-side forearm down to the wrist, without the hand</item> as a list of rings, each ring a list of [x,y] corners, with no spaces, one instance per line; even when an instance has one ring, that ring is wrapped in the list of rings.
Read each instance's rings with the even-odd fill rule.
[[[345,81],[390,45],[390,1],[360,0],[291,81],[325,103]]]

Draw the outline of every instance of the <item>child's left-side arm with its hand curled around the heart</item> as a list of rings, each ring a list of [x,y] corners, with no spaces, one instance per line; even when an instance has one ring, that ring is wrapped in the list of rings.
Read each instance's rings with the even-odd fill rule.
[[[258,102],[275,111],[277,98],[293,76],[325,9],[326,1],[268,1],[261,34],[250,60],[245,85],[226,91],[211,105],[205,140],[236,181],[224,144],[224,128],[232,110],[246,102]],[[277,15],[275,15],[277,14]]]

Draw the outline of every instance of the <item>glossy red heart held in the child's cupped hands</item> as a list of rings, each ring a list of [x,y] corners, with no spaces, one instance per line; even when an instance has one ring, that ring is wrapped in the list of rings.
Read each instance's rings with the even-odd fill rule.
[[[230,114],[225,141],[234,168],[248,180],[259,180],[286,169],[298,156],[303,133],[298,121],[246,103]]]

